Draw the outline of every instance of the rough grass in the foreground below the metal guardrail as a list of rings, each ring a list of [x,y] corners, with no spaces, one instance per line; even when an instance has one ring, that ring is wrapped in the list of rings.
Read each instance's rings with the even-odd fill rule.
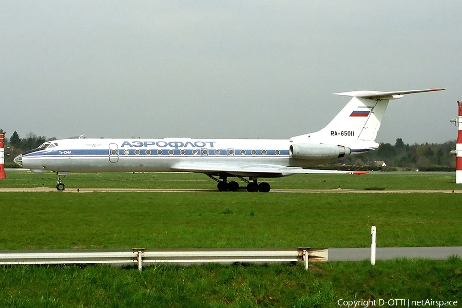
[[[4,307],[339,307],[339,300],[462,298],[462,260],[302,265],[4,266]],[[389,305],[382,305],[387,307]]]

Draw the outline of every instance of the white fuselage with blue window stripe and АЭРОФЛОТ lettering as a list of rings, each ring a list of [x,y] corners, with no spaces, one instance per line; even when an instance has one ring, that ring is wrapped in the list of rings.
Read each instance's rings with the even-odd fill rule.
[[[262,139],[66,139],[23,153],[21,159],[23,167],[35,172],[171,172],[184,161],[306,168],[334,160],[291,158],[290,145],[290,140]]]

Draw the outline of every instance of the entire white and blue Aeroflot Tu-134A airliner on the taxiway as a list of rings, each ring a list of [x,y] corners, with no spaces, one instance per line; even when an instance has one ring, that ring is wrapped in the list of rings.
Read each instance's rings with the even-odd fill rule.
[[[358,155],[379,147],[375,142],[389,100],[405,94],[440,91],[353,91],[352,97],[324,128],[288,140],[276,139],[64,139],[48,141],[17,156],[14,162],[33,172],[54,171],[57,190],[70,172],[198,172],[218,182],[221,191],[268,192],[258,178],[294,174],[362,174],[362,171],[316,170],[311,166]],[[248,178],[248,180],[247,180]]]

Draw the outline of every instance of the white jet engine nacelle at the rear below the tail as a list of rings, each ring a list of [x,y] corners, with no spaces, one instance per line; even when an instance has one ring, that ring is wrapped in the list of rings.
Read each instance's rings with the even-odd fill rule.
[[[342,145],[298,143],[289,148],[291,157],[308,160],[336,159],[350,156],[350,148]]]

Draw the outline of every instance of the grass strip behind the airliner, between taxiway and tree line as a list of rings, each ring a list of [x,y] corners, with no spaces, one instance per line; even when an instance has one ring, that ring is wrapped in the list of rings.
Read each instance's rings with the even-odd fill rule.
[[[265,179],[273,189],[461,189],[454,172],[371,172],[365,175],[294,175]],[[216,188],[217,184],[202,174],[187,173],[102,173],[71,174],[64,178],[66,189],[77,188]],[[239,181],[242,187],[245,183]],[[0,187],[56,186],[56,175],[8,172]]]

